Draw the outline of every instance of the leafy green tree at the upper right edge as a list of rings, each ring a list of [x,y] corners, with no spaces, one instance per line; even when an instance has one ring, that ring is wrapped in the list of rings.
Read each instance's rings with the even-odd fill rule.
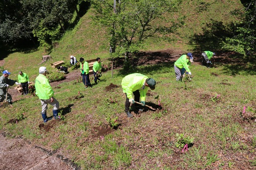
[[[233,36],[222,42],[223,48],[243,54],[246,58],[255,58],[256,41],[256,0],[241,1],[244,5],[243,21],[234,23]]]

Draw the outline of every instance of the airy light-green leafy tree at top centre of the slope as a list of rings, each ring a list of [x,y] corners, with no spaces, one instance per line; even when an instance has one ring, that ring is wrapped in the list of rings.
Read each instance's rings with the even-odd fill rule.
[[[163,19],[163,14],[175,10],[179,0],[119,0],[113,9],[113,0],[92,0],[94,19],[108,28],[110,46],[116,55],[125,55],[139,50],[142,42],[160,32],[155,20]]]

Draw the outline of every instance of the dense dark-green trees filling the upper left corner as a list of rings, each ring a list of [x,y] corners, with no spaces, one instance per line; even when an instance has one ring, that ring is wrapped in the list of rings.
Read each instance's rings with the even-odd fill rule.
[[[81,0],[0,1],[0,42],[12,46],[24,40],[38,40],[51,48],[52,42],[69,26]]]

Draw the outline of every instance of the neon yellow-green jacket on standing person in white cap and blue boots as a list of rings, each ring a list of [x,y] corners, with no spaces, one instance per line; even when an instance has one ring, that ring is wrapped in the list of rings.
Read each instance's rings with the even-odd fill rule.
[[[48,100],[54,95],[49,80],[42,74],[39,74],[35,79],[35,90],[35,94],[42,100]]]

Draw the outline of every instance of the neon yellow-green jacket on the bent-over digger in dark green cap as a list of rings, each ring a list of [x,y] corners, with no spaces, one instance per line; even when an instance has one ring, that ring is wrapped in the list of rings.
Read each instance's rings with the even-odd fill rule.
[[[122,80],[122,88],[123,92],[127,94],[128,99],[132,99],[133,92],[136,90],[140,91],[140,100],[145,101],[146,98],[146,92],[148,87],[145,86],[145,81],[148,77],[139,74],[134,73],[131,75],[127,75]]]

